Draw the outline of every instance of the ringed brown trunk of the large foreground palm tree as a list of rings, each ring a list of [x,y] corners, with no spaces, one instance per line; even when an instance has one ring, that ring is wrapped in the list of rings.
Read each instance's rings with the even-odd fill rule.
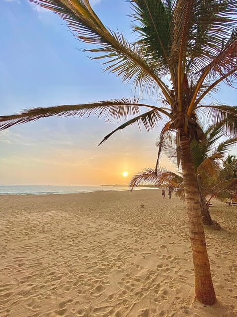
[[[203,304],[213,305],[216,303],[216,295],[211,279],[197,178],[194,173],[188,135],[181,135],[180,148],[189,234],[193,253],[195,297]]]

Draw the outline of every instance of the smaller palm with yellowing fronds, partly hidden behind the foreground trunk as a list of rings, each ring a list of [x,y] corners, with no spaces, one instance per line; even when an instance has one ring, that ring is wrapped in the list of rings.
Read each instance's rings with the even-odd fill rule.
[[[196,140],[191,142],[191,156],[199,188],[203,224],[215,225],[216,227],[216,221],[211,219],[209,203],[213,197],[221,201],[226,198],[234,198],[232,190],[237,178],[233,177],[233,173],[236,170],[237,160],[235,156],[230,155],[227,156],[224,162],[223,158],[226,152],[237,143],[237,138],[227,138],[221,141],[224,136],[223,122],[209,126],[204,130],[204,134],[206,142],[200,143]],[[162,144],[166,155],[173,163],[177,160],[174,143],[172,135],[169,135],[167,141]],[[222,163],[224,166],[222,166]],[[130,182],[131,188],[133,189],[141,182],[170,187],[175,189],[176,194],[184,200],[182,176],[166,169],[157,168],[157,166],[155,169],[148,168],[133,176]],[[209,197],[208,201],[207,197]]]

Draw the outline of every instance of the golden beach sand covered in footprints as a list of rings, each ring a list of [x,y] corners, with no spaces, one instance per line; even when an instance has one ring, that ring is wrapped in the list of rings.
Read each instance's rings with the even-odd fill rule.
[[[222,230],[205,230],[218,298],[205,306],[174,195],[1,195],[0,316],[237,317],[237,206],[210,211]]]

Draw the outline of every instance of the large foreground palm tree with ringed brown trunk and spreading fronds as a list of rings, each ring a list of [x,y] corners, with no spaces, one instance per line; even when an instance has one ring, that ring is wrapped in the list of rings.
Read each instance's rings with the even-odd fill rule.
[[[135,43],[129,43],[122,33],[106,28],[89,0],[30,1],[59,14],[78,39],[94,45],[87,51],[96,53],[93,58],[101,61],[106,71],[118,74],[124,81],[133,81],[146,92],[159,94],[163,104],[121,99],[36,108],[1,117],[1,129],[52,115],[80,117],[93,113],[128,120],[107,135],[105,141],[135,122],[150,130],[162,117],[168,118],[161,140],[167,131],[176,131],[193,251],[195,296],[202,303],[214,304],[216,296],[190,141],[193,138],[204,141],[197,120],[203,109],[210,120],[226,120],[226,128],[236,132],[233,119],[237,118],[237,107],[205,105],[203,99],[219,83],[231,84],[237,78],[237,0],[128,0],[136,21],[133,30],[139,35]]]

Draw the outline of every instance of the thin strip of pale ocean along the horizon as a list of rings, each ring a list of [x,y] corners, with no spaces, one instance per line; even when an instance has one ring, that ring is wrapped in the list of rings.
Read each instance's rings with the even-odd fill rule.
[[[128,186],[63,186],[63,185],[0,185],[0,195],[45,195],[45,194],[77,194],[97,191],[122,191]],[[151,189],[139,187],[139,189]]]

